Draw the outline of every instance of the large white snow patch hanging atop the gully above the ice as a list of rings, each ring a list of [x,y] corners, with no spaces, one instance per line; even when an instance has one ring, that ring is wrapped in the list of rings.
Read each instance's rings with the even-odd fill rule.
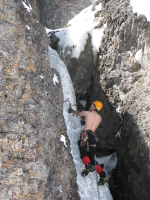
[[[71,57],[79,58],[80,53],[84,50],[88,34],[92,37],[93,55],[96,55],[103,36],[104,26],[95,28],[99,24],[99,20],[94,21],[94,15],[101,10],[101,4],[97,5],[95,10],[92,6],[87,7],[68,22],[68,27],[65,29],[54,30],[55,35],[59,38],[59,46],[63,53],[66,47],[72,47]],[[105,25],[106,27],[106,25]],[[46,29],[46,33],[53,32]],[[68,52],[70,54],[70,52]]]

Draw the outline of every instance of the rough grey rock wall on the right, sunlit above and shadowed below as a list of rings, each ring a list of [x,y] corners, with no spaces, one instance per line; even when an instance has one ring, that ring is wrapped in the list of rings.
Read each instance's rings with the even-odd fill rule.
[[[129,1],[102,1],[107,29],[100,46],[100,85],[122,117],[114,172],[116,199],[149,199],[150,24]],[[141,50],[141,60],[135,59]],[[114,187],[115,189],[115,187]]]

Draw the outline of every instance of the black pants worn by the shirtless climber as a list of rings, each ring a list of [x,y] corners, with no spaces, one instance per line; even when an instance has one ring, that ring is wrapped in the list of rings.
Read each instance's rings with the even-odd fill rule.
[[[96,146],[96,140],[95,140],[95,136],[92,134],[92,131],[87,131],[88,133],[88,142],[89,142],[89,150],[87,149],[87,143],[85,142],[84,144],[82,143],[81,140],[78,141],[78,145],[79,145],[79,150],[80,150],[80,157],[81,159],[83,159],[85,156],[88,156],[91,160],[91,163],[93,165],[97,164],[97,162],[95,163],[95,154],[96,154],[96,147],[94,147],[94,145]],[[92,145],[92,146],[90,146]]]

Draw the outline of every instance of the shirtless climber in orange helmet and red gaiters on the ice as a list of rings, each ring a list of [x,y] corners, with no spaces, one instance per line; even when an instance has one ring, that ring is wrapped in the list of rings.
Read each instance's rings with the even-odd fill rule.
[[[96,169],[100,176],[98,185],[103,185],[108,181],[106,173],[102,167],[95,161],[96,155],[96,136],[95,131],[102,121],[99,111],[102,109],[103,104],[100,101],[94,101],[89,111],[78,112],[73,110],[69,104],[68,113],[73,113],[80,118],[85,117],[85,126],[80,133],[80,140],[78,141],[79,150],[85,169],[82,171],[82,176],[87,176],[89,172]]]

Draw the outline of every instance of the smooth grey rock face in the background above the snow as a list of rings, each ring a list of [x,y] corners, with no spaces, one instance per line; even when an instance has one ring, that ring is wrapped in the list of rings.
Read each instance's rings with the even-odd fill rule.
[[[40,9],[40,21],[46,28],[57,29],[81,10],[94,3],[94,0],[37,0]]]

